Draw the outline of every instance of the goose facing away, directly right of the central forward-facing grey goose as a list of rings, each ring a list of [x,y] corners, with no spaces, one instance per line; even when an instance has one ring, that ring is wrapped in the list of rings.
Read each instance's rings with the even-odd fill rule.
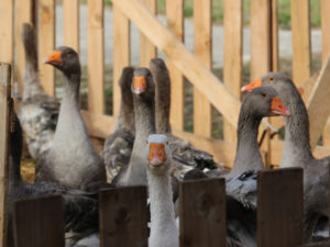
[[[184,173],[191,168],[215,169],[217,164],[213,157],[207,151],[195,148],[187,141],[183,141],[172,134],[169,124],[170,108],[170,77],[168,69],[161,58],[153,58],[150,61],[150,69],[156,83],[155,92],[155,123],[156,133],[166,134],[173,159],[176,161],[175,175],[183,178]],[[188,167],[187,167],[188,166]]]

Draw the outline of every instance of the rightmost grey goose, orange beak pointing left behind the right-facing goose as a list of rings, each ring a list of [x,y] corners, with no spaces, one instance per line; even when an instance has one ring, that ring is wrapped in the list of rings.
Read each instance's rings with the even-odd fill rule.
[[[316,159],[309,144],[308,113],[293,80],[282,72],[268,72],[246,85],[243,91],[261,86],[276,89],[293,113],[285,117],[285,141],[280,167],[304,168],[305,239],[310,240],[319,218],[329,216],[329,164],[330,156]]]

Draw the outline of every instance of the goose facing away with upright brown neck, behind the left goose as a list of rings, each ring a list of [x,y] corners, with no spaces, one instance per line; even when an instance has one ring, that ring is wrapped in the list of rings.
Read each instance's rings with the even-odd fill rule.
[[[57,124],[59,102],[43,89],[37,69],[36,37],[33,26],[23,24],[22,42],[25,52],[23,99],[19,119],[31,157],[36,160],[51,148]]]

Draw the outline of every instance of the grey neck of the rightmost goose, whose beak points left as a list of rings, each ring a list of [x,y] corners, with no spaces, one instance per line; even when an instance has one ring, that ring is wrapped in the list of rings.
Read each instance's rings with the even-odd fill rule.
[[[285,142],[280,166],[304,167],[306,161],[312,159],[307,110],[294,85],[287,87],[283,94],[283,101],[292,115],[285,117]]]

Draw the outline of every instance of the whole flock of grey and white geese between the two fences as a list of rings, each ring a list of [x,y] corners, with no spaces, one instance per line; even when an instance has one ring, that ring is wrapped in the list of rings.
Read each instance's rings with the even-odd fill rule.
[[[13,246],[12,202],[61,193],[64,198],[66,246],[97,247],[100,188],[144,184],[148,188],[150,247],[178,247],[176,224],[178,180],[222,177],[227,182],[227,245],[256,246],[256,173],[264,169],[258,150],[258,126],[264,116],[285,117],[282,167],[304,168],[305,240],[316,237],[328,221],[328,164],[316,159],[309,146],[308,115],[294,82],[268,72],[244,86],[232,170],[219,168],[208,153],[172,134],[170,77],[165,63],[154,58],[150,68],[125,67],[119,86],[120,114],[103,150],[97,154],[79,109],[80,63],[66,46],[44,63],[64,75],[59,103],[41,86],[36,37],[23,25],[24,92],[10,133],[10,199],[8,246]],[[35,182],[20,175],[22,133],[36,161]],[[218,167],[218,168],[217,168]]]

